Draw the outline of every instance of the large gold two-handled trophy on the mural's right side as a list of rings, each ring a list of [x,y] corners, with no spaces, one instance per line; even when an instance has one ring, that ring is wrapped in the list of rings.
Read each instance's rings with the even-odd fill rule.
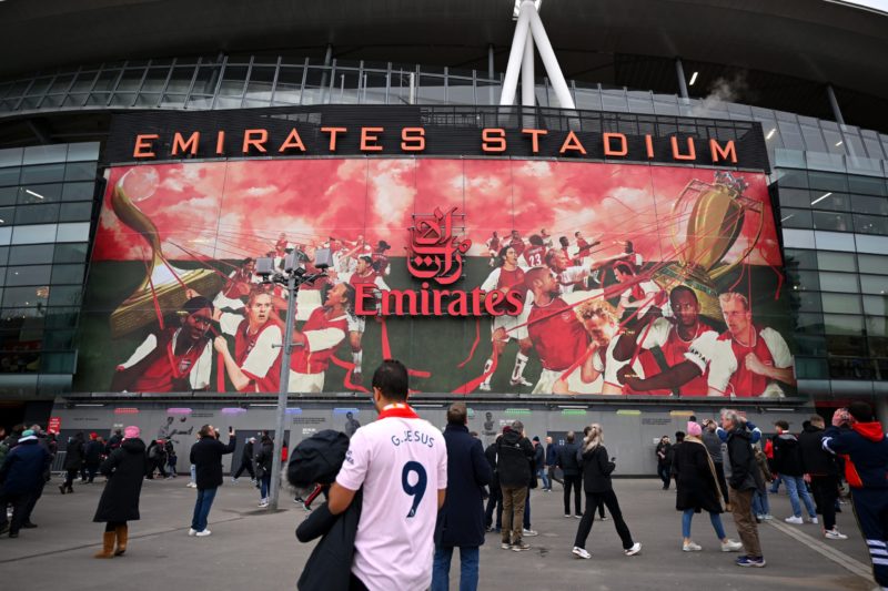
[[[745,197],[748,184],[729,172],[716,172],[713,183],[690,181],[672,211],[672,242],[678,261],[654,274],[666,289],[685,284],[697,294],[700,314],[720,320],[716,282],[741,264],[753,252],[765,224],[763,204]],[[754,236],[733,263],[725,255],[734,247],[749,216],[758,216]],[[687,220],[684,241],[682,222]],[[753,222],[755,223],[755,222]]]

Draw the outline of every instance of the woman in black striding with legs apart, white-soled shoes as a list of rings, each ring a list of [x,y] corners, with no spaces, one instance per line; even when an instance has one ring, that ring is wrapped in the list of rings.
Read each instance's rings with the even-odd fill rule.
[[[602,426],[594,422],[589,426],[588,435],[583,441],[582,465],[583,488],[586,490],[586,512],[576,530],[574,540],[574,556],[578,558],[592,558],[586,551],[586,539],[592,531],[595,521],[595,509],[601,502],[607,506],[610,517],[614,519],[614,527],[623,542],[623,553],[630,557],[642,551],[642,544],[632,539],[629,528],[623,520],[623,512],[619,510],[617,496],[614,493],[614,486],[610,482],[610,473],[616,468],[614,459],[607,459],[607,449],[604,447],[604,434]]]

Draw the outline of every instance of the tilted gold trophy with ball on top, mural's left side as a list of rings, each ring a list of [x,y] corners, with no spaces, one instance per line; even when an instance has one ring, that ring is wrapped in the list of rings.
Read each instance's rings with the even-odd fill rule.
[[[186,291],[206,295],[221,287],[221,279],[211,269],[182,269],[163,256],[158,227],[135,204],[157,191],[158,173],[151,166],[139,166],[124,174],[111,194],[111,208],[123,223],[140,234],[151,247],[145,261],[145,277],[111,314],[111,336],[118,338],[137,328],[158,322],[158,313],[175,310],[188,299]]]

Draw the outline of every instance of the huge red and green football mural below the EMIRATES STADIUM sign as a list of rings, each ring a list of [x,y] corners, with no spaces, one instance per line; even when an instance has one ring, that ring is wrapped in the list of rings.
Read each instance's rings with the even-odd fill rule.
[[[315,252],[332,264],[315,268]],[[255,274],[297,253],[287,293]],[[115,166],[81,391],[797,397],[761,173],[516,159]]]

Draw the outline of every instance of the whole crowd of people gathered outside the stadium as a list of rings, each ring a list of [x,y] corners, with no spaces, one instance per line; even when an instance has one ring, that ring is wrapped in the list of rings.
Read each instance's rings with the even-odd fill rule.
[[[451,562],[458,548],[460,589],[477,589],[478,550],[485,534],[498,533],[503,550],[531,549],[527,538],[538,534],[531,527],[531,491],[551,492],[558,481],[564,488],[564,517],[579,520],[571,550],[575,557],[592,558],[586,542],[596,514],[605,518],[605,508],[623,552],[639,554],[642,543],[630,532],[613,486],[616,458],[605,447],[601,425],[589,425],[582,436],[569,432],[563,445],[548,437],[544,445],[538,437],[528,438],[525,426],[515,420],[484,449],[477,434],[468,430],[465,404],[451,405],[443,432],[416,415],[407,404],[408,373],[403,364],[383,361],[373,375],[372,388],[377,420],[357,428],[351,439],[322,431],[293,450],[291,471],[312,456],[312,445],[316,455],[317,442],[324,441],[320,454],[329,472],[325,480],[317,472],[310,477],[327,501],[306,520],[314,528],[312,536],[321,537],[322,542],[315,548],[321,556],[313,554],[303,579],[311,580],[305,578],[309,571],[316,574],[316,569],[343,567],[345,578],[340,587],[329,579],[315,580],[326,581],[326,589],[444,590],[450,588]],[[807,519],[820,523],[823,518],[824,538],[846,539],[836,527],[844,475],[875,579],[888,587],[888,439],[872,409],[854,403],[835,412],[829,428],[821,417],[813,416],[798,435],[785,421],[775,427],[776,435],[763,441],[757,426],[741,412],[726,409],[717,421],[698,422],[690,417],[686,429],[676,434],[675,444],[668,437],[658,442],[655,452],[663,488],[673,482],[676,488],[680,550],[703,550],[692,536],[692,523],[696,513],[706,511],[720,551],[741,552],[735,561],[739,567],[765,567],[758,523],[770,519],[767,483],[777,483],[777,478],[786,485],[793,510],[786,522]],[[79,459],[65,461],[63,493],[72,490],[72,473],[81,469],[87,482],[98,473],[105,477],[93,518],[105,524],[95,558],[120,557],[127,551],[129,522],[140,518],[142,483],[162,468],[160,456],[152,457],[140,435],[138,427],[130,426],[108,441],[98,436],[87,441],[80,435],[67,446],[71,457]],[[152,442],[162,449],[167,444]],[[241,468],[232,478],[239,478],[241,470],[249,471],[261,488],[260,506],[268,506],[274,442],[268,432],[245,442],[250,447],[244,447]],[[98,467],[90,446],[99,450]],[[334,459],[336,446],[339,460]],[[53,438],[39,426],[17,428],[0,439],[0,533],[16,538],[21,529],[37,527],[30,517],[49,481],[54,447]],[[211,534],[209,513],[223,482],[222,458],[235,448],[232,428],[228,444],[212,425],[200,429],[189,456],[196,488],[189,536]],[[163,459],[169,462],[169,455]],[[11,521],[7,507],[12,508]],[[725,530],[722,516],[728,511],[739,541]],[[313,588],[300,584],[300,589]]]

